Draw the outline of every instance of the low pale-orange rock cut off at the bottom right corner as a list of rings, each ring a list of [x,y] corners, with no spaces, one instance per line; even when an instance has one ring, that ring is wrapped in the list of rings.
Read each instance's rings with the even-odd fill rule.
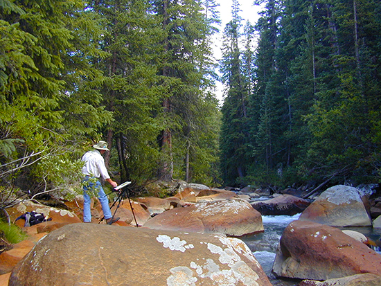
[[[343,278],[328,279],[323,282],[303,280],[298,286],[380,286],[381,276],[375,274],[356,274]]]

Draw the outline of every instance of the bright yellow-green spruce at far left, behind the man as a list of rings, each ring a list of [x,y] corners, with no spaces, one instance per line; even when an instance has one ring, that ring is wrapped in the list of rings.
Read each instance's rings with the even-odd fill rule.
[[[90,68],[89,51],[94,52],[94,46],[89,46],[85,32],[89,26],[97,30],[96,23],[86,19],[81,24],[84,9],[80,0],[0,3],[0,144],[7,146],[0,157],[11,169],[17,159],[33,158],[18,173],[24,178],[18,182],[30,181],[30,186],[19,187],[28,188],[32,195],[48,188],[48,183],[61,184],[64,177],[73,177],[69,172],[78,175],[78,166],[62,171],[62,163],[72,166],[73,151],[84,134],[94,134],[111,118],[98,105],[99,97],[82,100],[77,96],[85,85],[87,93],[82,96],[89,95],[99,75]],[[72,69],[74,62],[80,64],[77,70]]]

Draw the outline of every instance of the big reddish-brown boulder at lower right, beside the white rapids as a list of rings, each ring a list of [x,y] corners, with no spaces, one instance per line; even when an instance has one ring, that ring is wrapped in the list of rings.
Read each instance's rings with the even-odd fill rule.
[[[381,255],[332,226],[296,220],[285,228],[279,245],[276,276],[312,280],[362,273],[381,276]]]

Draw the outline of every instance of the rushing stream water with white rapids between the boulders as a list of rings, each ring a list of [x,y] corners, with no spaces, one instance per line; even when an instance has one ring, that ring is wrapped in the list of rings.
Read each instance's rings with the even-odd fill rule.
[[[275,259],[276,248],[278,247],[279,240],[285,229],[290,222],[299,219],[300,214],[294,216],[287,215],[263,215],[263,227],[265,231],[256,235],[245,235],[241,239],[253,251],[254,256],[262,266],[263,270],[269,277],[270,282],[274,286],[294,286],[301,280],[298,279],[283,279],[276,278],[272,274],[272,265]],[[345,228],[353,231],[363,233],[373,241],[380,238],[381,229],[371,229],[370,227],[356,227]],[[380,249],[375,249],[381,254]]]

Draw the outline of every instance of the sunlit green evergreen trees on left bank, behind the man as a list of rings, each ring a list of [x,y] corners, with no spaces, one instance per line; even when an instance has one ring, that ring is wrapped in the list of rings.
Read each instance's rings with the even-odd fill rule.
[[[0,1],[1,184],[31,196],[78,193],[78,158],[106,134],[121,180],[144,184],[165,158],[190,181],[218,181],[217,5],[168,4]],[[174,148],[162,148],[163,130]]]

